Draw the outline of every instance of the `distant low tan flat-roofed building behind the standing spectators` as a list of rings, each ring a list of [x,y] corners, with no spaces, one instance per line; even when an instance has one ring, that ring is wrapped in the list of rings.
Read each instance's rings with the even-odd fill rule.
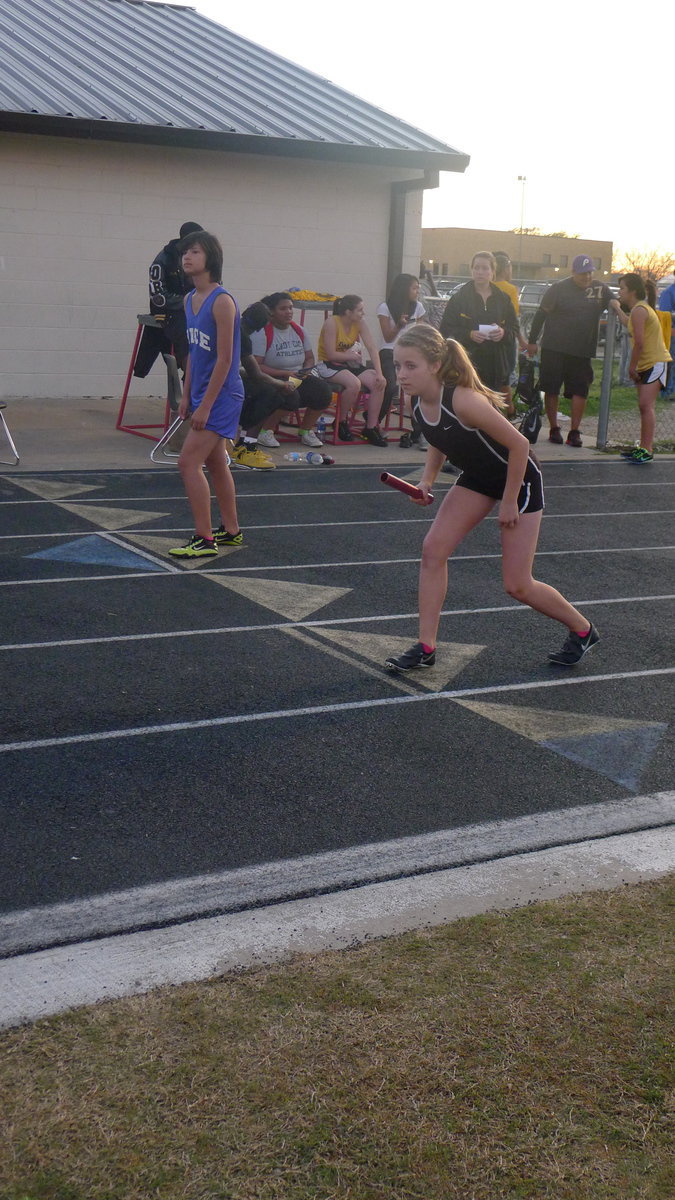
[[[422,259],[434,275],[468,276],[471,259],[477,250],[506,250],[513,263],[515,280],[554,282],[569,275],[577,254],[589,254],[598,277],[611,274],[611,241],[589,238],[558,238],[513,229],[453,229],[422,230]]]

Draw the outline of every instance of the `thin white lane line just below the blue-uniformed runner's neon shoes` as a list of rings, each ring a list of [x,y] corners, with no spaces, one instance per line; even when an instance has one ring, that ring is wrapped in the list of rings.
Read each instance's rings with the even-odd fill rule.
[[[107,536],[100,534],[101,538]],[[110,538],[110,540],[113,540]],[[124,548],[130,548],[126,542],[120,541],[120,546]],[[132,547],[137,552],[137,547]],[[567,554],[571,557],[577,557],[580,554],[641,554],[641,553],[653,553],[655,551],[671,551],[675,546],[603,546],[601,548],[592,550],[538,550],[537,558],[557,558],[561,554]],[[139,551],[138,551],[139,552]],[[151,556],[145,556],[150,558],[150,562],[155,562]],[[472,563],[480,562],[482,559],[495,559],[501,558],[501,553],[495,552],[494,554],[453,554],[448,559],[448,564],[452,566],[453,563]],[[156,562],[163,566],[165,559],[157,558]],[[338,566],[399,566],[406,563],[419,563],[419,554],[414,558],[354,558],[346,559],[345,562],[330,563],[324,559],[321,563],[275,563],[271,566],[209,566],[209,575],[227,575],[228,572],[235,575],[243,575],[245,571],[319,571],[329,570]],[[44,580],[0,580],[0,588],[30,588],[34,584],[36,587],[43,586],[46,583],[98,583],[101,580],[156,580],[160,575],[183,575],[189,577],[191,574],[193,578],[198,578],[199,572],[192,571],[187,572],[180,570],[178,566],[173,571],[157,571],[153,574],[150,571],[120,571],[115,575],[60,575],[54,578]]]

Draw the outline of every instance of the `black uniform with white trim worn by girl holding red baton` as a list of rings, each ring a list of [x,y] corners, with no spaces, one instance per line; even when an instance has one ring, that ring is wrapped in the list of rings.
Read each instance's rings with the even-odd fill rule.
[[[482,496],[501,500],[508,470],[508,450],[483,430],[462,425],[453,409],[454,390],[449,386],[443,388],[441,415],[435,425],[430,425],[426,420],[419,396],[414,396],[412,401],[414,418],[429,444],[441,450],[453,467],[461,470],[455,487],[468,487],[472,492],[480,492]],[[530,451],[530,461],[518,496],[518,511],[539,512],[543,508],[542,470]]]

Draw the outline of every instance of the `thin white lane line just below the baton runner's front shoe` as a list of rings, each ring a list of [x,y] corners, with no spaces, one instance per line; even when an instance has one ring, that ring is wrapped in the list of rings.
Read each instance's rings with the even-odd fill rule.
[[[383,676],[384,676],[384,668]],[[530,683],[495,684],[489,688],[460,688],[454,691],[434,691],[422,696],[386,696],[378,700],[352,700],[339,704],[315,704],[307,708],[281,708],[267,713],[237,713],[232,716],[209,716],[199,721],[171,721],[166,725],[137,725],[126,730],[101,730],[98,733],[73,733],[60,738],[34,738],[28,742],[0,743],[0,754],[47,750],[53,746],[83,745],[94,742],[114,742],[143,738],[151,734],[186,733],[195,730],[215,730],[228,725],[251,725],[298,716],[321,716],[325,713],[351,713],[362,708],[390,708],[393,704],[420,704],[431,700],[458,700],[467,696],[495,696],[512,691],[545,691],[549,688],[579,686],[586,683],[615,683],[621,679],[649,679],[675,674],[675,667],[655,667],[650,671],[619,671],[615,674],[581,676],[566,679],[538,679]],[[386,678],[382,680],[386,682]]]

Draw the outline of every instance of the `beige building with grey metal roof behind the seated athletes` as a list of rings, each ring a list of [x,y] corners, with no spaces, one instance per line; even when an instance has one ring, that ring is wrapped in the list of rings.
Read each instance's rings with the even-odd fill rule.
[[[184,221],[220,236],[241,306],[298,287],[374,313],[419,269],[424,190],[467,163],[193,8],[2,0],[1,392],[119,396]]]

